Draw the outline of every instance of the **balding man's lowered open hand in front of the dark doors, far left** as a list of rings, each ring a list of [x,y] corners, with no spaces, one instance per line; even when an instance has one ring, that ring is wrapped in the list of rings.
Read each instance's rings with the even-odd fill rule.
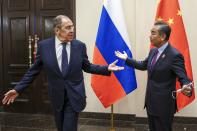
[[[18,97],[18,92],[14,89],[9,90],[6,94],[4,94],[4,98],[2,100],[2,103],[5,105],[10,105],[15,101],[15,99]]]

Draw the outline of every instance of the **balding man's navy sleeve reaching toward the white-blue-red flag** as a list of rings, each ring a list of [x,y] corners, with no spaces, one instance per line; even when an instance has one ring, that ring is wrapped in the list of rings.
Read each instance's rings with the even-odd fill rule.
[[[85,44],[82,44],[82,55],[83,55],[83,63],[82,63],[82,69],[91,74],[98,74],[98,75],[106,75],[109,76],[111,74],[110,71],[108,71],[108,65],[101,66],[90,63],[87,56],[87,49]]]

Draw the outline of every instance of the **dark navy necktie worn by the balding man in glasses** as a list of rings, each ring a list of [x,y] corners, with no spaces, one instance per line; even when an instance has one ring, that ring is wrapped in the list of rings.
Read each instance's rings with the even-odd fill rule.
[[[66,43],[62,43],[62,45],[62,75],[64,76],[68,68],[68,55],[66,51]]]

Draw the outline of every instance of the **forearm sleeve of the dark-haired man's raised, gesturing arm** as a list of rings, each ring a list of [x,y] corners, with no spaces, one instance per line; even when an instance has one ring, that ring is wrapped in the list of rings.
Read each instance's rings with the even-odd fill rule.
[[[138,70],[147,70],[148,58],[146,58],[144,61],[136,61],[135,59],[127,58],[125,63],[126,65]]]

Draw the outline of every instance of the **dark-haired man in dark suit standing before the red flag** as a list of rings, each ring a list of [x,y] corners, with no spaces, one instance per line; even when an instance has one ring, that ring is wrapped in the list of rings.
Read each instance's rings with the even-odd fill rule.
[[[145,107],[151,131],[172,131],[177,107],[172,91],[176,90],[177,78],[182,86],[182,93],[191,95],[191,81],[186,74],[184,58],[168,42],[170,33],[171,28],[167,23],[155,22],[150,41],[156,48],[150,50],[144,61],[128,58],[126,52],[115,52],[128,66],[148,72]]]

